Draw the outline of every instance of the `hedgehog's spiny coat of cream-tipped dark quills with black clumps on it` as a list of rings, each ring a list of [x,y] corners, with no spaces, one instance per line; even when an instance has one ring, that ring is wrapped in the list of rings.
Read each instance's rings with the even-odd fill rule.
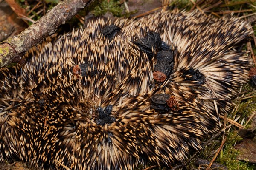
[[[47,38],[24,65],[0,69],[0,162],[131,170],[184,161],[247,82],[251,60],[239,46],[250,28],[160,11]]]

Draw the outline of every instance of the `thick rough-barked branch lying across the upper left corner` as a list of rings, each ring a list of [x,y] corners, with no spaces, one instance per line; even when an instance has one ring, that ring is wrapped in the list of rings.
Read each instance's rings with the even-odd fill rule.
[[[19,62],[32,46],[55,32],[61,23],[76,15],[81,8],[93,0],[65,0],[19,35],[10,37],[0,44],[0,68],[12,62]]]

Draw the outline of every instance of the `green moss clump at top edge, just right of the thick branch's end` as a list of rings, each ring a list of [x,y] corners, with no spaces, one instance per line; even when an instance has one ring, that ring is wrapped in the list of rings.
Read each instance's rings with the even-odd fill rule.
[[[119,1],[116,0],[103,0],[99,6],[94,8],[93,14],[95,16],[104,15],[106,12],[111,12],[114,16],[120,17],[123,8],[120,6]]]

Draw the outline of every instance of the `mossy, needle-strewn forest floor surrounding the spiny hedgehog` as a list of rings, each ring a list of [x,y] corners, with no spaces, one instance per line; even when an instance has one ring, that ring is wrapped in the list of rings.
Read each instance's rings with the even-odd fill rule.
[[[9,36],[19,34],[44,16],[47,10],[52,9],[58,2],[59,0],[0,0],[0,42]],[[66,24],[60,26],[58,31],[62,34],[71,31],[72,28],[82,27],[92,16],[139,18],[154,11],[175,8],[186,11],[197,9],[212,17],[233,15],[247,20],[253,26],[254,35],[252,40],[244,46],[244,50],[250,51],[249,55],[256,64],[256,2],[253,0],[100,0],[80,11]],[[201,153],[197,153],[191,160],[188,160],[183,169],[203,170],[211,161],[214,162],[212,170],[253,170],[256,168],[255,84],[253,85],[251,81],[241,87],[238,97],[233,102],[236,107],[227,114],[227,118],[221,119],[221,122],[232,126],[226,130],[226,133],[221,133],[212,139]],[[222,147],[224,139],[227,140]],[[215,155],[217,155],[216,158]],[[192,155],[189,157],[191,158]],[[148,167],[141,166],[138,170],[169,170],[172,168],[181,169],[175,165],[167,168],[149,163]],[[6,161],[0,170],[35,170],[35,168],[13,160]]]

